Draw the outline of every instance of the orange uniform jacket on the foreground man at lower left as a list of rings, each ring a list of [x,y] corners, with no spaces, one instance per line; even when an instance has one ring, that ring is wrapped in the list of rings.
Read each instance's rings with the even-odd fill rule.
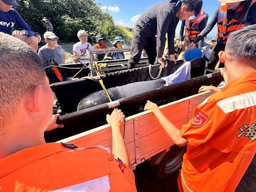
[[[0,159],[0,191],[136,191],[132,171],[104,149],[47,143],[18,151]]]

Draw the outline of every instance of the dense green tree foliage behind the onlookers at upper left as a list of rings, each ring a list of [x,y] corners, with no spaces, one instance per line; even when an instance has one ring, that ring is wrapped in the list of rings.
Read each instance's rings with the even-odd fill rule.
[[[95,0],[17,0],[15,9],[26,23],[40,33],[45,32],[41,19],[46,16],[54,33],[64,42],[77,41],[76,33],[84,29],[88,41],[95,42],[98,35],[112,40],[121,36],[128,44],[132,29],[114,24],[112,16],[103,12]]]

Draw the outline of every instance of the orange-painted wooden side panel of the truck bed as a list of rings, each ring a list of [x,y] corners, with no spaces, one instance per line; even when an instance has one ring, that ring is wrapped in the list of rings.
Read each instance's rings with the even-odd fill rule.
[[[193,108],[210,94],[212,94],[210,91],[199,93],[159,106],[159,108],[171,122],[181,128],[191,116]],[[136,129],[134,128],[135,119],[137,119]],[[60,141],[74,143],[80,147],[106,144],[112,148],[111,127],[107,124],[102,125]],[[124,141],[132,164],[140,163],[174,144],[150,110],[125,118]]]

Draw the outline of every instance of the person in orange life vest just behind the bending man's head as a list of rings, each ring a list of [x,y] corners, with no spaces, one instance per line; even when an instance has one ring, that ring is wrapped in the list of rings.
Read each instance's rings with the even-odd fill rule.
[[[181,41],[179,42],[179,47],[182,47],[184,38],[184,46],[182,52],[186,50],[187,46],[189,46],[194,39],[199,35],[199,33],[205,28],[207,25],[208,14],[203,10],[200,11],[198,16],[190,16],[188,19],[183,20],[181,22],[180,30],[179,30],[179,38]],[[183,36],[185,28],[185,36]],[[203,39],[198,42],[198,48],[202,47]]]

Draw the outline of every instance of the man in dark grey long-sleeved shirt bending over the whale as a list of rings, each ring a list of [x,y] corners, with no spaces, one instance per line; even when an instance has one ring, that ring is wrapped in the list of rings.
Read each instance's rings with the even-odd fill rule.
[[[157,56],[158,63],[164,67],[162,56],[166,33],[169,59],[176,62],[173,44],[178,20],[199,14],[201,7],[202,0],[168,0],[153,5],[140,15],[134,24],[128,68],[133,68],[138,63],[143,48],[150,64],[154,63]]]

